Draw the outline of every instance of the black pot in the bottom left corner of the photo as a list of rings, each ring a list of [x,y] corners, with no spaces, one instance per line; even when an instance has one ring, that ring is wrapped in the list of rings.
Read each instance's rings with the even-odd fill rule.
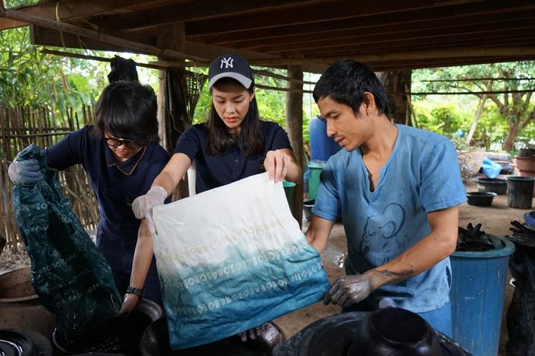
[[[30,330],[0,330],[0,355],[51,356],[52,345],[43,335]]]

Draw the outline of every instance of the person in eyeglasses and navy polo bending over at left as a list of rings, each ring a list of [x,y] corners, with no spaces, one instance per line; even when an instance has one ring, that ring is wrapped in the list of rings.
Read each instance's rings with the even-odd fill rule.
[[[98,99],[95,125],[41,151],[48,167],[64,170],[82,164],[88,175],[101,216],[96,243],[111,266],[119,293],[125,295],[120,313],[129,313],[143,293],[162,303],[150,231],[131,208],[169,160],[158,145],[156,111],[156,95],[148,85],[111,83]],[[44,175],[36,159],[15,159],[9,177],[14,184],[35,184]]]

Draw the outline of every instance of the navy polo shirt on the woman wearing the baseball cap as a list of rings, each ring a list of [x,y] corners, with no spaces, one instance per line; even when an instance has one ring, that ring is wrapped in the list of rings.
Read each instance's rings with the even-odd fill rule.
[[[260,122],[263,147],[258,154],[245,156],[238,145],[229,147],[224,155],[208,154],[208,132],[205,124],[193,125],[180,136],[175,153],[183,153],[195,162],[197,172],[195,191],[221,187],[254,174],[265,172],[264,159],[267,151],[289,148],[290,140],[282,127],[275,122]]]

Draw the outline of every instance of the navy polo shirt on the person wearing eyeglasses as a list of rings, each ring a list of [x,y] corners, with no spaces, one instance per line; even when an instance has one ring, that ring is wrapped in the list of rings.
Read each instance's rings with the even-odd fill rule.
[[[99,229],[113,239],[137,239],[140,221],[132,202],[148,192],[169,156],[160,145],[148,145],[118,162],[106,142],[90,135],[92,128],[83,127],[47,148],[46,164],[61,171],[81,164],[98,201]]]

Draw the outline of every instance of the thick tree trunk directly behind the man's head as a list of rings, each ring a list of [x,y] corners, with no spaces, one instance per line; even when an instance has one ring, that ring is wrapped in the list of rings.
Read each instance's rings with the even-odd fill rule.
[[[412,70],[377,73],[377,78],[387,91],[390,109],[388,117],[392,122],[411,125],[409,102],[405,91],[406,87],[411,88],[411,75]]]

